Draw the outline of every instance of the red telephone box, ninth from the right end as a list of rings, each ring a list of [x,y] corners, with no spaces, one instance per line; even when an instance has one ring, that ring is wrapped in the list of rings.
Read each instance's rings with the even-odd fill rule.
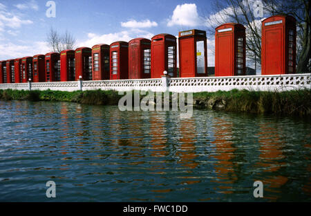
[[[62,51],[60,55],[61,81],[75,81],[75,51]]]

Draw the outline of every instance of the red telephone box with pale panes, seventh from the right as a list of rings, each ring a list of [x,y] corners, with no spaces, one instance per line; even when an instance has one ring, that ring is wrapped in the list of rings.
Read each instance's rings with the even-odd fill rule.
[[[93,80],[109,80],[109,55],[110,46],[97,44],[92,47]]]

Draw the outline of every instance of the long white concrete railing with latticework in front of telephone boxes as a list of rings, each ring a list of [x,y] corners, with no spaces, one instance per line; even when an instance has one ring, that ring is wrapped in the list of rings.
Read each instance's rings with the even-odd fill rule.
[[[140,80],[100,80],[73,82],[28,82],[0,84],[0,89],[18,90],[115,90],[115,91],[173,91],[173,92],[201,92],[201,91],[229,91],[232,89],[248,89],[256,91],[288,91],[292,89],[311,89],[311,74],[286,75],[245,75],[229,77],[205,78],[169,78],[163,75],[158,79]]]

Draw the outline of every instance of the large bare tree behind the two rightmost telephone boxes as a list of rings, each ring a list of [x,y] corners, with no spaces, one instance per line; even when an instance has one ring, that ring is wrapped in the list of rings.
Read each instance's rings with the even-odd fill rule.
[[[215,28],[226,22],[236,22],[246,27],[246,57],[256,67],[261,62],[261,21],[254,15],[254,0],[223,0],[214,3],[214,15],[207,19],[207,32],[214,34]],[[297,73],[310,72],[310,1],[308,0],[262,0],[265,17],[292,15],[296,18]]]

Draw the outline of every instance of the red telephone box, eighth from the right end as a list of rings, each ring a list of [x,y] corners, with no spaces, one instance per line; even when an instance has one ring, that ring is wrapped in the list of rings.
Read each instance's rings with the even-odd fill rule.
[[[80,47],[75,50],[75,80],[92,80],[92,49]]]

